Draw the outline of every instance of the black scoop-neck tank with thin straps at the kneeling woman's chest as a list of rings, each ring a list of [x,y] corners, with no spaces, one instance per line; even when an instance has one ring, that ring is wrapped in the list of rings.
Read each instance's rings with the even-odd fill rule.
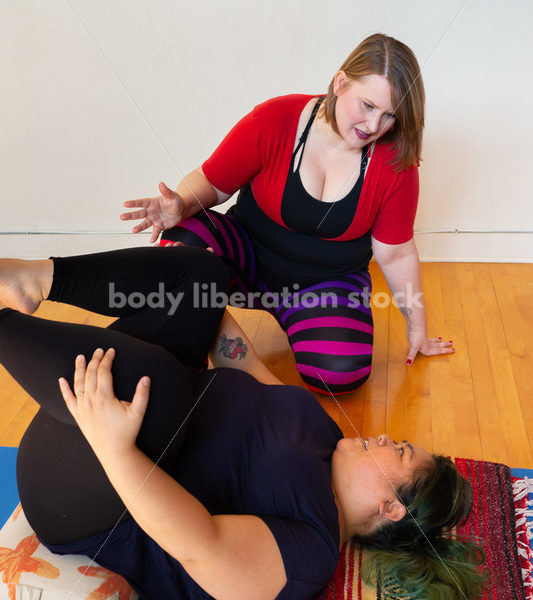
[[[302,164],[305,142],[307,141],[309,130],[315,120],[322,100],[323,98],[320,98],[315,104],[311,118],[292,154],[289,175],[285,183],[281,202],[281,218],[285,225],[294,231],[315,237],[332,239],[342,235],[355,217],[368,163],[368,146],[365,146],[361,153],[359,178],[344,198],[335,202],[323,202],[311,196],[302,183],[300,165]],[[295,168],[296,157],[300,149],[298,164]]]

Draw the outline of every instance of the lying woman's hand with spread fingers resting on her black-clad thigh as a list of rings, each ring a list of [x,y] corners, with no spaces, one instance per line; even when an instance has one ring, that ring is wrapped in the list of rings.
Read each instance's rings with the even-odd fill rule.
[[[111,374],[114,358],[113,348],[105,353],[98,348],[87,365],[80,354],[76,358],[74,392],[66,379],[59,379],[70,413],[101,461],[105,454],[116,455],[135,447],[150,395],[150,380],[142,377],[131,402],[115,396]]]

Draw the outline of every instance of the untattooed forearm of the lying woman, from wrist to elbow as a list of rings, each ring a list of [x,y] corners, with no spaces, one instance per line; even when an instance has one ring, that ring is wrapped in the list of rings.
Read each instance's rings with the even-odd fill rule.
[[[206,508],[139,448],[98,458],[139,526],[180,562],[201,559],[218,531]]]

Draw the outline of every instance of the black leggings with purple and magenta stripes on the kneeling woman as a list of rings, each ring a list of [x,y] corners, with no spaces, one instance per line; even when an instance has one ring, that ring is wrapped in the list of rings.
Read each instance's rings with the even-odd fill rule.
[[[368,271],[335,277],[280,298],[262,280],[250,237],[234,217],[200,211],[163,232],[161,245],[177,241],[211,246],[225,260],[233,277],[229,304],[243,306],[239,301],[246,297],[248,308],[266,310],[276,318],[311,390],[347,394],[368,379],[374,333]]]

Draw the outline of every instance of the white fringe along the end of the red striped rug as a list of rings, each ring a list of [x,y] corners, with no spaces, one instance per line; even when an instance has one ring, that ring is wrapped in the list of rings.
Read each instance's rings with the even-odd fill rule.
[[[513,481],[516,517],[516,542],[522,566],[522,580],[527,600],[533,600],[533,479],[524,477]]]

